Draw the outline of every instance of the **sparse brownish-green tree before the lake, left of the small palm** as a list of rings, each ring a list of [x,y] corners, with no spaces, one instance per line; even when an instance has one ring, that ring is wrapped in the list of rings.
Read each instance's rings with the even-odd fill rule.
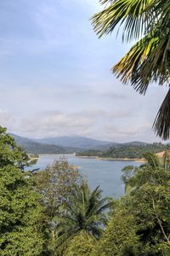
[[[82,182],[77,167],[69,165],[65,158],[55,160],[52,166],[37,172],[35,177],[37,189],[42,194],[42,204],[50,218],[58,214],[59,205],[71,195],[74,184]]]

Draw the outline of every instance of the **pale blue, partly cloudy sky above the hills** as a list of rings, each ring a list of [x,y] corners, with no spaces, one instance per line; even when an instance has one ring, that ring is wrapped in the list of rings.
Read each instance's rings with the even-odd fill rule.
[[[98,38],[98,0],[0,1],[0,125],[23,137],[160,142],[151,127],[167,88],[145,96],[111,67],[130,48]]]

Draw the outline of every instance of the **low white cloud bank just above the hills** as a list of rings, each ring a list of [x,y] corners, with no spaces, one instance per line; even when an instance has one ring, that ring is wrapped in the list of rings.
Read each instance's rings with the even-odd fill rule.
[[[141,140],[148,134],[150,124],[129,127],[127,110],[109,112],[94,109],[77,113],[46,111],[18,120],[15,131],[26,137],[85,136],[111,141]],[[124,122],[125,125],[122,125]]]

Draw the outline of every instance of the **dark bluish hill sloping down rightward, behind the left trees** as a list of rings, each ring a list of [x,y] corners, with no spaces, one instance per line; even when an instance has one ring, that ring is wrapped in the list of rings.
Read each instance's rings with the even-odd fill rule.
[[[58,145],[52,145],[48,143],[37,143],[29,138],[20,137],[13,133],[10,133],[16,143],[26,149],[27,153],[34,154],[69,154],[76,151],[76,148],[61,147]]]

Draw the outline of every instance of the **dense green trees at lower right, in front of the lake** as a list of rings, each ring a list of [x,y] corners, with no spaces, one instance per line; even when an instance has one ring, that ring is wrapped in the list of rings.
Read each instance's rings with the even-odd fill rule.
[[[126,179],[131,187],[126,206],[138,224],[141,252],[162,255],[170,253],[170,169],[154,154],[146,154],[145,158],[146,164],[135,168]]]

